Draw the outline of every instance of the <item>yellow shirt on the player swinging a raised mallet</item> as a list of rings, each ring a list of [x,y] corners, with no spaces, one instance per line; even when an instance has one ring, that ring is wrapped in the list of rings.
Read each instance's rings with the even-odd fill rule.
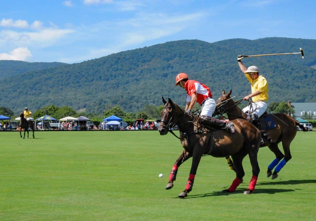
[[[256,102],[258,100],[264,100],[266,102],[268,102],[268,82],[267,80],[265,80],[264,76],[259,75],[258,78],[256,80],[252,80],[248,74],[245,74],[246,78],[248,79],[248,81],[251,83],[251,93],[255,92],[255,91],[261,91],[262,93],[252,97],[252,101]]]

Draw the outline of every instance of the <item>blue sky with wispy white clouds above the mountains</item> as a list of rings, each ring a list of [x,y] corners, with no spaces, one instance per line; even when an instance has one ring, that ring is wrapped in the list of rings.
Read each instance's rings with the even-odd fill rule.
[[[315,39],[316,1],[0,0],[0,60],[78,63],[182,39]]]

